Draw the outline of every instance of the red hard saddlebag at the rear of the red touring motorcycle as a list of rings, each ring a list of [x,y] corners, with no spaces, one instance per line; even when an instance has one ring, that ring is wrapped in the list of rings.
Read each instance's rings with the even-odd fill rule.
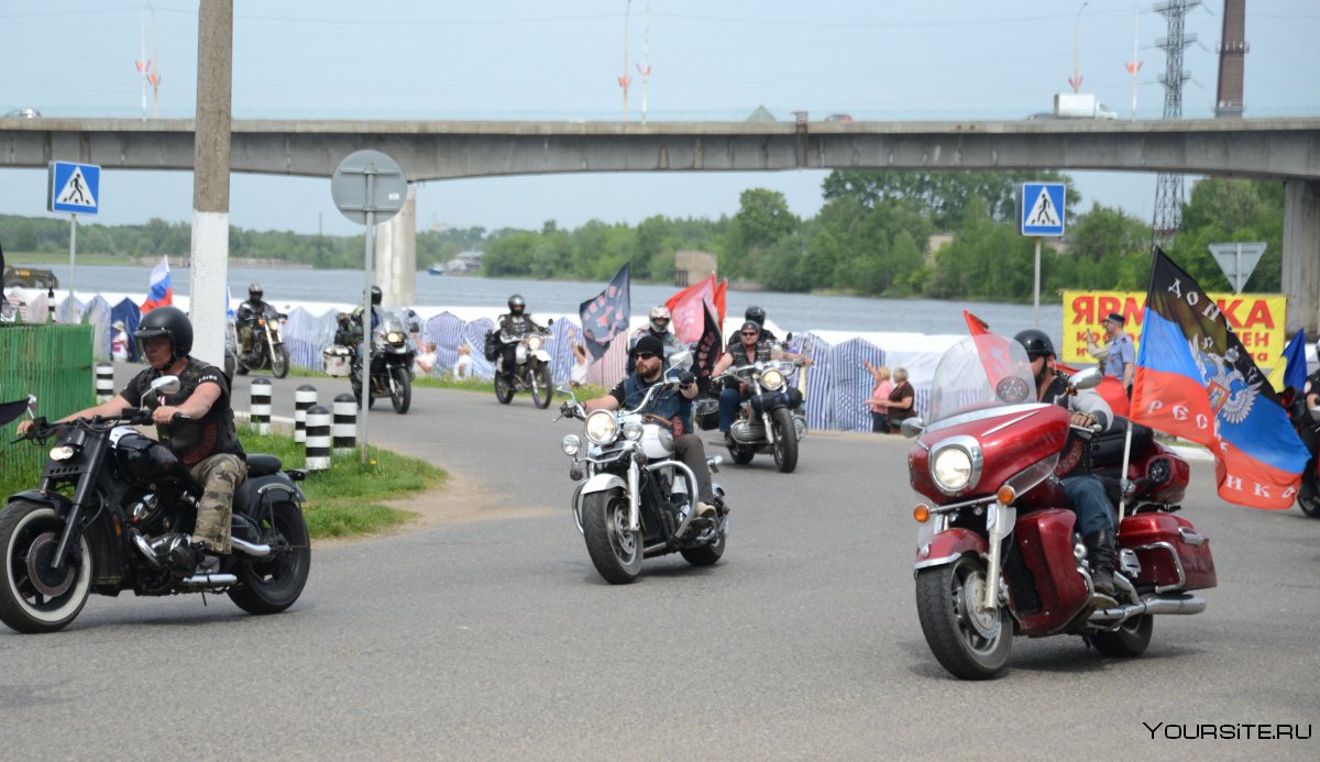
[[[1138,584],[1154,584],[1167,591],[1195,591],[1218,584],[1210,539],[1183,517],[1170,513],[1129,515],[1118,529],[1118,544],[1137,552],[1142,564]]]

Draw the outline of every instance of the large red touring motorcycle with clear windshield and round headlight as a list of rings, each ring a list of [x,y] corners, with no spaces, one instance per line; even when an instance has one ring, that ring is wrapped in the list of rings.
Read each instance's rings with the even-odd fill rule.
[[[1100,378],[1089,369],[1072,385],[1090,389]],[[933,389],[929,421],[908,419],[903,432],[916,439],[908,465],[923,500],[913,510],[917,618],[945,670],[993,678],[1007,664],[1014,635],[1074,634],[1101,654],[1138,657],[1155,614],[1205,609],[1189,591],[1216,585],[1209,539],[1173,514],[1187,488],[1185,461],[1154,438],[1134,448],[1123,485],[1131,512],[1125,505],[1115,522],[1117,592],[1109,597],[1094,589],[1055,477],[1060,451],[1067,444],[1065,459],[1085,455],[1073,442],[1090,430],[1071,427],[1068,410],[1036,402],[1022,347],[994,335],[964,339],[941,357]],[[1069,440],[1069,431],[1081,438]],[[1113,464],[1100,465],[1104,475]]]

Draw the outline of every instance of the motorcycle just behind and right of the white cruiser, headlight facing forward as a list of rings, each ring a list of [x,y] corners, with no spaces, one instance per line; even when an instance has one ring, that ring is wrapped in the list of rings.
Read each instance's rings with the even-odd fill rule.
[[[788,377],[801,364],[801,359],[771,360],[766,356],[719,374],[725,386],[746,384],[748,392],[729,431],[733,439],[729,456],[734,463],[746,465],[760,452],[772,454],[775,468],[781,473],[797,468],[799,442],[807,436],[807,415],[801,410],[803,393],[788,384]],[[702,401],[698,426],[713,428],[710,414],[718,415],[718,399]]]

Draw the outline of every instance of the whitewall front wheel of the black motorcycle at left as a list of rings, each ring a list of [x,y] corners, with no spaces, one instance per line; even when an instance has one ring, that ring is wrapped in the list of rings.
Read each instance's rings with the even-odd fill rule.
[[[0,621],[20,633],[53,633],[74,621],[91,592],[91,552],[77,537],[61,570],[50,568],[65,522],[49,505],[16,500],[0,512]]]

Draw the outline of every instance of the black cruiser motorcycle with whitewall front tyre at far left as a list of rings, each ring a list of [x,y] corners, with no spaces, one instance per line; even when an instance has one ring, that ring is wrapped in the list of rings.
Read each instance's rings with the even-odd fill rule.
[[[148,394],[178,392],[176,376]],[[144,396],[147,399],[147,396]],[[189,534],[201,489],[187,467],[132,426],[150,411],[46,423],[22,439],[51,436],[41,483],[0,512],[0,621],[20,633],[63,629],[90,593],[228,595],[240,609],[272,614],[298,600],[312,563],[300,471],[271,455],[248,455],[234,493],[232,550],[214,572],[197,572]]]

